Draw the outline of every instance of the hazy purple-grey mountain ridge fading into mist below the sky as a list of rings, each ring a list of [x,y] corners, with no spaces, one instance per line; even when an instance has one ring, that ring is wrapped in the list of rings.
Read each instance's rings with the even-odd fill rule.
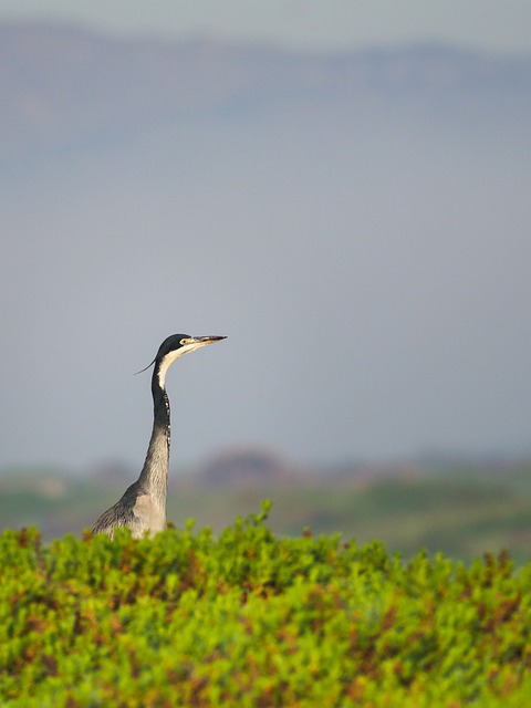
[[[8,154],[168,121],[293,101],[531,105],[531,55],[442,45],[294,52],[214,39],[119,39],[0,23],[0,150]],[[528,110],[529,111],[529,110]]]

